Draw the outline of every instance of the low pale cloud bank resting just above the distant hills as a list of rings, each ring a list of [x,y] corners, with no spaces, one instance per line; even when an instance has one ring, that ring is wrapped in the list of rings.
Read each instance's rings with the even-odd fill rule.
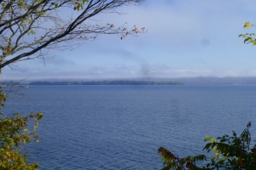
[[[27,80],[35,79],[124,79],[124,78],[177,78],[177,77],[256,77],[256,70],[187,70],[172,69],[168,65],[108,65],[91,66],[83,71],[7,71],[1,77],[3,79]]]

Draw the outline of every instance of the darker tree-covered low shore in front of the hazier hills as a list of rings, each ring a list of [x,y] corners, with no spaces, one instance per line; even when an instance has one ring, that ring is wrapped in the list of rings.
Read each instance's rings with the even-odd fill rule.
[[[153,81],[92,81],[92,82],[30,82],[29,85],[183,85],[183,82],[153,82]]]

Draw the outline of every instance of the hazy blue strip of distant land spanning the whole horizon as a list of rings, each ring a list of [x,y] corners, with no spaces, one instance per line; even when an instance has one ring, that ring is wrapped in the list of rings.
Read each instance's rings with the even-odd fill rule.
[[[82,80],[82,79],[50,79],[38,81],[2,81],[7,84],[33,85],[180,85],[180,84],[256,84],[256,77],[183,77],[183,78],[155,78],[142,77],[123,80]]]

